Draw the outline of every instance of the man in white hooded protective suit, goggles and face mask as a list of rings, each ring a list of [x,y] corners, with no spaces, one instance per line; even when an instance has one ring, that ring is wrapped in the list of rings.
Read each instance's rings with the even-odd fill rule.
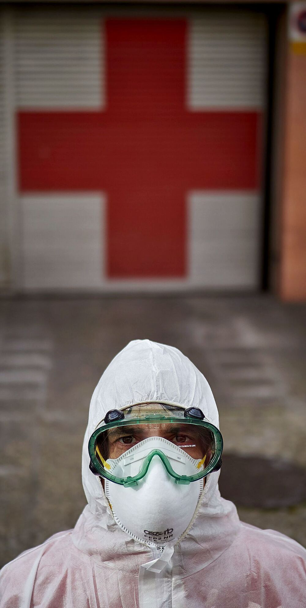
[[[1,571],[1,608],[302,608],[306,551],[220,497],[213,393],[176,348],[134,340],[89,409],[88,505]],[[243,483],[243,480],[242,480]]]

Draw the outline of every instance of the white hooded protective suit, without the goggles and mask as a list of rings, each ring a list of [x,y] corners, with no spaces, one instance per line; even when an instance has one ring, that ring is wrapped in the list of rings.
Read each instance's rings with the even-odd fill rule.
[[[2,568],[1,608],[305,607],[306,551],[283,534],[240,522],[233,503],[220,497],[219,472],[208,475],[191,529],[174,550],[152,550],[114,522],[89,470],[87,444],[108,410],[146,401],[198,407],[219,426],[213,393],[189,359],[149,340],[130,342],[90,402],[82,465],[88,505],[73,530]],[[122,494],[124,500],[124,488]]]

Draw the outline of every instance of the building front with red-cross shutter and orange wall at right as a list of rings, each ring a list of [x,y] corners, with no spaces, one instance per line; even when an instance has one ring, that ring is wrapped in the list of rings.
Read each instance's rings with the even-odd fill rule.
[[[305,298],[302,3],[0,11],[4,290]]]

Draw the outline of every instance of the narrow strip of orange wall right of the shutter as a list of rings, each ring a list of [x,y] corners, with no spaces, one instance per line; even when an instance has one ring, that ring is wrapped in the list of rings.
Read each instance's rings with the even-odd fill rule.
[[[306,300],[306,43],[288,50],[279,293]]]

